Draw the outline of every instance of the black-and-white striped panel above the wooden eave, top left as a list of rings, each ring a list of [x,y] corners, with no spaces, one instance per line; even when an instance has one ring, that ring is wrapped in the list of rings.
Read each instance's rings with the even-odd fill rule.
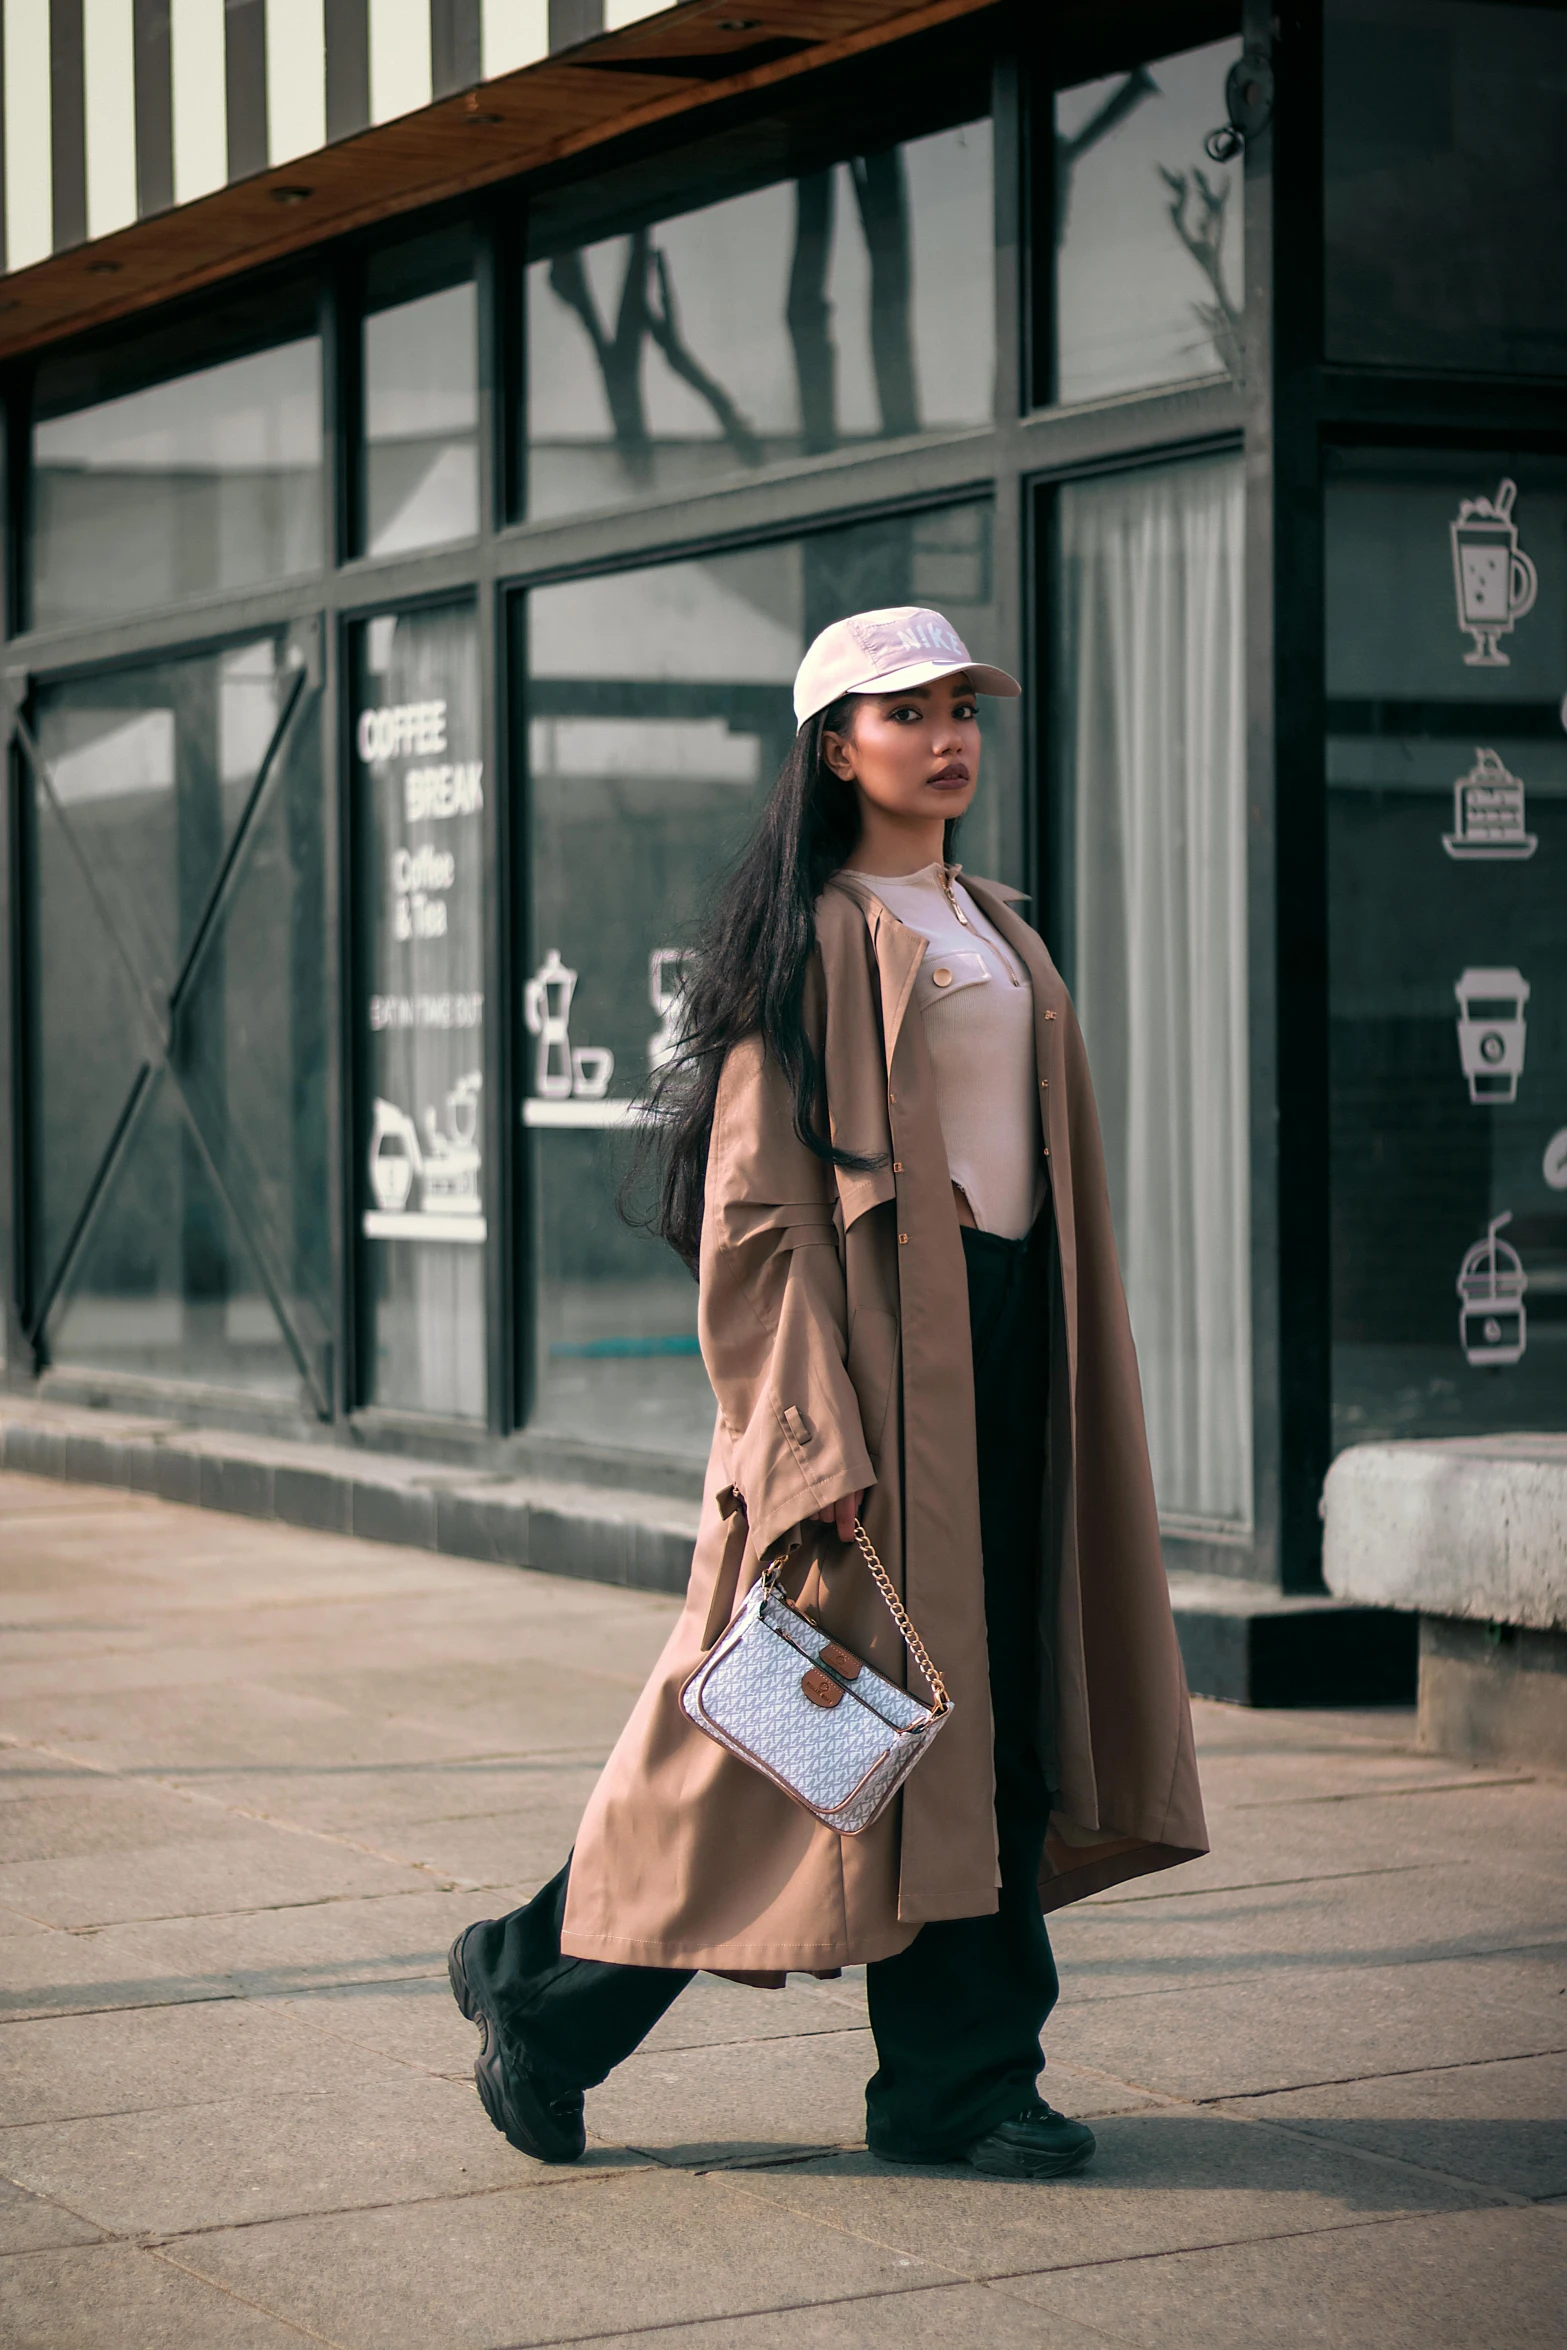
[[[0,0],[0,270],[670,0]]]

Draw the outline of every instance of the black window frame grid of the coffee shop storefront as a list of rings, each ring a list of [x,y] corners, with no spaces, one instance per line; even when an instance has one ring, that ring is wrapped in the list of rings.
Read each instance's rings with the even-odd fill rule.
[[[1224,19],[1224,21],[1219,21]],[[724,101],[724,110],[686,118],[672,132],[648,132],[479,197],[409,214],[376,230],[317,249],[294,273],[256,273],[242,287],[172,306],[157,331],[190,334],[230,301],[261,303],[268,289],[308,282],[322,334],[324,369],[324,548],[320,571],[254,590],[169,606],[115,623],[28,630],[21,616],[28,404],[33,362],[12,367],[5,392],[5,649],[0,653],[7,719],[26,710],[35,682],[68,670],[176,653],[275,623],[315,623],[322,637],[322,768],[329,891],[329,952],[336,964],[329,1116],[336,1135],[331,1267],[336,1297],[334,1422],[388,1448],[430,1448],[428,1424],[359,1408],[357,1271],[352,1201],[357,1196],[352,1065],[355,973],[348,630],[364,616],[472,597],[479,625],[482,752],[486,778],[486,1309],[489,1426],[477,1436],[439,1424],[451,1457],[550,1466],[571,1473],[571,1448],[533,1443],[526,1422],[529,1297],[526,1152],[517,1119],[517,966],[526,827],[512,757],[522,712],[512,693],[507,630],[515,597],[564,578],[639,566],[691,552],[742,548],[876,512],[912,510],[984,494],[994,503],[998,630],[991,653],[1029,682],[1024,703],[1027,874],[1048,935],[1060,928],[1067,886],[1057,837],[1057,794],[1048,778],[1048,552],[1055,484],[1104,472],[1240,446],[1247,463],[1247,801],[1250,801],[1250,1097],[1252,1097],[1252,1363],[1255,1363],[1255,1509],[1245,1544],[1172,1537],[1172,1565],[1201,1567],[1292,1591],[1320,1589],[1318,1499],[1330,1459],[1327,1325],[1327,872],[1323,780],[1323,451],[1332,442],[1482,444],[1518,439],[1560,446],[1560,383],[1391,371],[1325,364],[1323,357],[1323,12],[1318,0],[1243,0],[1240,33],[1271,56],[1276,106],[1269,127],[1245,148],[1245,345],[1243,385],[1198,381],[1165,390],[1052,407],[1050,355],[1050,172],[1041,172],[1041,125],[1052,125],[1052,89],[1071,70],[1092,73],[1116,56],[1170,54],[1233,28],[1236,9],[1193,0],[1191,40],[1170,31],[1158,0],[1114,12],[1071,5],[1045,19],[1029,5],[966,16],[968,40],[994,42],[994,298],[996,411],[987,428],[930,439],[919,449],[872,449],[850,463],[803,458],[768,470],[768,479],[728,479],[712,489],[637,508],[515,519],[526,451],[519,432],[524,378],[522,261],[529,207],[552,200],[569,179],[646,167],[679,176],[681,146],[766,110],[764,99]],[[1097,47],[1095,47],[1097,45]],[[895,80],[900,47],[879,52]],[[1078,75],[1081,78],[1081,75]],[[808,103],[813,82],[799,85]],[[374,249],[456,219],[472,223],[479,308],[479,536],[418,555],[355,555],[355,482],[359,385],[359,287]],[[143,329],[146,331],[146,329]],[[85,338],[63,357],[108,364],[113,338]],[[94,352],[99,360],[94,360]],[[193,360],[193,364],[197,364]],[[7,736],[9,740],[9,736]],[[12,1109],[12,1140],[0,1156],[0,1253],[7,1260],[7,1368],[12,1391],[38,1391],[40,1368],[21,1325],[26,1278],[28,1095],[23,1055],[23,959],[31,909],[19,905],[19,750],[7,752],[5,858],[0,909],[9,912],[0,961],[0,1088]],[[99,1394],[113,1379],[94,1377]],[[59,1386],[45,1377],[45,1391]],[[193,1410],[207,1391],[193,1394]],[[240,1417],[223,1396],[226,1417]],[[233,1405],[233,1410],[230,1410]],[[211,1401],[202,1408],[211,1410]],[[686,1490],[684,1471],[597,1459],[592,1473],[620,1483]]]

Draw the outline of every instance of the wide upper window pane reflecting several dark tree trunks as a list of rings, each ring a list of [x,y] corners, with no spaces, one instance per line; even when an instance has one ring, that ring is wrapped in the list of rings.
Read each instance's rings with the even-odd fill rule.
[[[540,216],[529,515],[987,423],[991,209],[980,120],[590,242]]]

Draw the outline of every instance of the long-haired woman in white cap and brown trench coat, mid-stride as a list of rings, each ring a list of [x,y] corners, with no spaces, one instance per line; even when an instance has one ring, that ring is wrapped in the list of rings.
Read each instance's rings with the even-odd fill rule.
[[[1017,891],[947,860],[975,696],[1017,691],[933,611],[825,630],[695,959],[655,1128],[719,1401],[686,1607],[569,1866],[451,1950],[484,2108],[545,2162],[693,1969],[865,1962],[872,2153],[1071,2171],[1095,2141],[1036,2089],[1043,1911],[1205,1852],[1083,1041]],[[954,1711],[848,1838],[679,1692],[780,1551],[902,1683],[855,1516]]]

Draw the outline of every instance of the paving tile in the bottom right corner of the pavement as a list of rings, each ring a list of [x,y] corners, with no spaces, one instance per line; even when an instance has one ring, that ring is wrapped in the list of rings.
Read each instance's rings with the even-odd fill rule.
[[[1560,2350],[1567,2218],[1466,2211],[1008,2280],[1041,2341],[1132,2350]]]

